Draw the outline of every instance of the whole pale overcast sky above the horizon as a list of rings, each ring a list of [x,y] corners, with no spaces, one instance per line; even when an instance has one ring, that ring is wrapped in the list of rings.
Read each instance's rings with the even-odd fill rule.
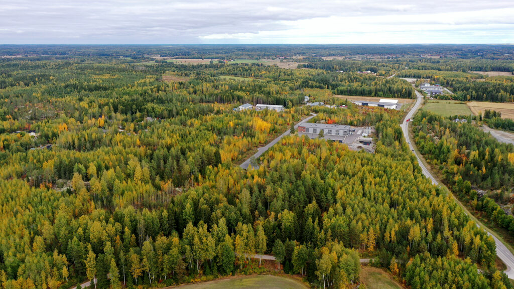
[[[0,44],[514,43],[514,0],[0,0]]]

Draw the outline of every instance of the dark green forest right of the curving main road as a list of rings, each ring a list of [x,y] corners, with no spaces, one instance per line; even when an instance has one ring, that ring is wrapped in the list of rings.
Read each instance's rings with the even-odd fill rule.
[[[492,198],[479,195],[477,190],[498,190],[500,199],[512,193],[514,146],[497,141],[471,123],[454,122],[426,111],[416,115],[413,126],[419,151],[442,171],[452,191],[513,234],[512,214],[506,214]]]

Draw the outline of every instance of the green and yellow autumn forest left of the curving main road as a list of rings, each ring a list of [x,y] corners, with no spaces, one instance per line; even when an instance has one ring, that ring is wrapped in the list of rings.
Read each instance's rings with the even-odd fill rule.
[[[2,289],[162,287],[261,273],[255,254],[315,287],[358,284],[359,256],[412,288],[512,287],[494,240],[424,177],[402,113],[330,97],[412,97],[401,80],[111,58],[7,59],[0,71]],[[286,110],[232,110],[244,102]],[[373,126],[376,152],[292,135],[259,169],[236,166],[311,112]],[[494,174],[511,147],[476,150],[498,159],[481,182],[512,183]]]

